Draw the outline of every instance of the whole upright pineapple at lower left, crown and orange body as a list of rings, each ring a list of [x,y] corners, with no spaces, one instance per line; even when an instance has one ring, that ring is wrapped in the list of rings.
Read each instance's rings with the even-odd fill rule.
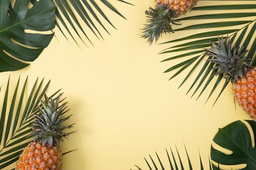
[[[59,142],[63,137],[67,138],[71,133],[64,133],[72,125],[62,126],[61,124],[69,119],[63,116],[66,113],[66,104],[59,106],[61,95],[56,99],[44,95],[45,101],[41,101],[40,113],[35,116],[32,123],[33,132],[30,136],[34,141],[29,143],[20,155],[16,170],[60,170],[61,150]]]

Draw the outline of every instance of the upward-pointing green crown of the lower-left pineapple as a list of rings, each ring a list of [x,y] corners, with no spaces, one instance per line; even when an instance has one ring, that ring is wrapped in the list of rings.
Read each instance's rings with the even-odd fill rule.
[[[32,123],[33,132],[30,136],[34,141],[41,141],[44,146],[48,143],[50,146],[59,146],[59,142],[63,141],[63,137],[67,138],[74,132],[65,133],[66,129],[70,129],[74,124],[69,126],[62,126],[62,123],[68,120],[72,115],[63,116],[68,110],[67,102],[59,105],[61,94],[55,99],[48,98],[44,94],[45,101],[41,100],[39,107],[39,114],[35,115],[35,121]]]

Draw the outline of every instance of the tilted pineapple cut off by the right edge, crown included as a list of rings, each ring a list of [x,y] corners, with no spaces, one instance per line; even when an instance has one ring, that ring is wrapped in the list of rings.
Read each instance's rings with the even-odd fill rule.
[[[206,52],[212,57],[209,61],[215,64],[216,74],[223,74],[232,83],[236,101],[256,121],[256,69],[246,57],[248,51],[232,46],[233,39],[229,37],[211,44],[211,50]]]

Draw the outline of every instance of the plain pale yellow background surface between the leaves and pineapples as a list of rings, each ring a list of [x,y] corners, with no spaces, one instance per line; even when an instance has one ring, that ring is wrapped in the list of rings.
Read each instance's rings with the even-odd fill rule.
[[[116,0],[110,2],[128,19],[105,10],[118,31],[107,26],[111,36],[103,33],[105,40],[100,42],[89,34],[95,47],[89,45],[87,48],[79,41],[79,48],[72,40],[69,44],[56,29],[59,41],[54,38],[29,67],[0,73],[0,84],[11,75],[14,87],[19,75],[22,81],[29,75],[29,88],[37,77],[44,77],[52,80],[48,94],[59,88],[65,92],[70,113],[74,114],[70,122],[77,122],[74,130],[78,133],[63,142],[62,150],[78,148],[78,151],[64,156],[63,170],[135,170],[134,164],[146,170],[143,157],[148,158],[148,153],[151,153],[156,158],[155,151],[168,167],[165,148],[175,148],[176,144],[185,158],[183,143],[195,170],[199,169],[198,150],[207,169],[210,146],[217,129],[237,119],[249,119],[239,107],[235,111],[231,86],[214,107],[212,103],[217,93],[205,105],[209,93],[197,102],[196,98],[190,99],[191,93],[185,96],[196,74],[177,90],[189,70],[168,81],[174,72],[164,74],[163,71],[181,60],[160,63],[177,53],[158,55],[171,45],[149,47],[144,39],[139,38],[139,29],[145,22],[144,11],[149,5],[154,6],[154,0],[129,1],[136,6]],[[200,6],[209,4],[223,2],[198,2]],[[194,21],[184,21],[182,27],[191,25],[191,22]],[[199,32],[167,34],[160,42]]]

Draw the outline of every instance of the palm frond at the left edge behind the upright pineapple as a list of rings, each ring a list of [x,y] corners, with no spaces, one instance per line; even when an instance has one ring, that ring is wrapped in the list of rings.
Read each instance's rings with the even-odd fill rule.
[[[2,108],[0,111],[0,170],[16,162],[22,149],[32,140],[28,135],[32,132],[30,122],[39,113],[38,105],[43,94],[46,92],[50,81],[43,85],[37,79],[29,96],[26,99],[28,77],[23,85],[20,85],[20,78],[15,90],[10,90],[10,78],[5,90],[1,87],[0,94]],[[52,94],[59,93],[60,90]],[[65,100],[65,99],[63,99]],[[14,167],[11,167],[14,168]]]

